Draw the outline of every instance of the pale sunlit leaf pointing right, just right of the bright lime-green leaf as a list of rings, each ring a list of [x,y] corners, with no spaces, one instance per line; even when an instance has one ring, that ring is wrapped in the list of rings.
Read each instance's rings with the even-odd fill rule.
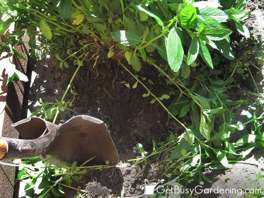
[[[216,8],[203,8],[199,9],[199,15],[204,16],[210,16],[214,18],[219,23],[226,22],[228,19],[228,14],[226,14],[223,10],[219,10]]]

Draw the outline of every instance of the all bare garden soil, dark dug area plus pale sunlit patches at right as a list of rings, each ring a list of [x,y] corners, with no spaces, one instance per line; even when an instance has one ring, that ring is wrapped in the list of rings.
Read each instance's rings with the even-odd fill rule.
[[[249,1],[247,9],[251,11],[250,20],[246,25],[250,27],[254,37],[257,34],[263,35],[264,16],[263,2]],[[235,34],[235,33],[234,33]],[[239,38],[240,39],[240,38]],[[248,45],[245,39],[234,42],[235,52],[241,51]],[[107,55],[105,55],[107,56]],[[254,56],[254,55],[252,55]],[[255,57],[252,57],[255,60]],[[152,137],[157,141],[165,140],[169,132],[177,133],[180,126],[173,120],[167,123],[167,112],[156,102],[150,104],[151,96],[145,98],[143,94],[147,93],[144,87],[139,83],[136,88],[132,88],[135,79],[131,78],[125,70],[118,67],[117,62],[111,61],[109,64],[98,64],[95,68],[94,63],[85,64],[78,72],[72,84],[73,91],[77,92],[74,111],[64,111],[59,114],[57,123],[63,123],[75,115],[90,115],[103,120],[113,138],[115,146],[120,156],[120,162],[116,168],[92,171],[85,176],[85,179],[76,184],[76,187],[86,189],[90,197],[117,197],[121,195],[124,188],[125,196],[135,196],[142,193],[140,185],[144,179],[154,181],[161,175],[161,170],[155,165],[141,165],[142,171],[133,166],[133,159],[138,155],[136,143],[142,143],[147,152],[152,151]],[[228,62],[225,64],[228,65]],[[131,66],[128,66],[132,71]],[[92,69],[91,69],[92,68]],[[53,102],[60,100],[68,86],[76,66],[70,65],[69,69],[61,70],[54,57],[37,62],[32,70],[32,79],[26,94],[25,110],[33,112],[37,108],[38,100]],[[158,72],[149,65],[143,65],[142,72],[138,73],[148,88],[153,88],[153,93],[160,97],[169,91],[162,79],[157,78]],[[256,76],[258,82],[263,78],[260,74]],[[154,85],[148,83],[153,81]],[[123,81],[129,83],[130,88],[126,87]],[[263,88],[263,82],[259,85]],[[250,87],[249,87],[250,88]],[[251,87],[252,88],[252,87]],[[263,90],[262,90],[263,92]],[[261,92],[261,93],[262,93]],[[66,100],[71,99],[68,94]],[[252,97],[252,99],[254,99]],[[166,106],[171,102],[170,99],[163,100]],[[242,111],[241,107],[240,111]],[[240,114],[239,110],[237,111]],[[188,116],[182,118],[182,122],[188,122]],[[240,119],[235,117],[235,119]],[[228,184],[232,187],[239,187],[241,181],[245,178],[256,175],[260,167],[263,167],[263,157],[261,151],[255,151],[254,155],[247,159],[250,164],[230,165],[230,169],[223,171],[212,171],[205,169],[206,176],[211,178],[213,183],[205,183],[204,188],[220,185],[226,187]],[[256,165],[255,165],[256,164]],[[193,184],[194,185],[194,184]],[[68,191],[68,196],[73,197],[76,191]],[[213,197],[212,195],[197,195],[196,197]],[[214,195],[214,197],[230,197],[229,195]]]

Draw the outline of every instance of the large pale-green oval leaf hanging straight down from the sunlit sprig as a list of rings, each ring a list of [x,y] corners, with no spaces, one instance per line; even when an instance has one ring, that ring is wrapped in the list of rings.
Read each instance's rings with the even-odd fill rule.
[[[181,38],[174,27],[169,32],[166,51],[170,68],[173,72],[177,72],[182,63],[184,51]]]

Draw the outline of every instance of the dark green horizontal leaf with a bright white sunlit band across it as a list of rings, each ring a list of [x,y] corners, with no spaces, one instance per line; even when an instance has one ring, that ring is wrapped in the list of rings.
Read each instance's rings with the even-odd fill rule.
[[[111,36],[114,41],[126,46],[134,46],[142,41],[137,34],[125,30],[112,32]]]

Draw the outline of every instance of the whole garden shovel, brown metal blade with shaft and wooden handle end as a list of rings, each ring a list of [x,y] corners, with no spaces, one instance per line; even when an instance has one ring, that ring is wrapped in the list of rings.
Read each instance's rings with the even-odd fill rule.
[[[105,123],[78,115],[62,125],[31,117],[13,124],[23,139],[0,138],[0,160],[21,159],[45,154],[52,164],[92,162],[116,165],[119,156]],[[91,163],[91,162],[90,162]]]

